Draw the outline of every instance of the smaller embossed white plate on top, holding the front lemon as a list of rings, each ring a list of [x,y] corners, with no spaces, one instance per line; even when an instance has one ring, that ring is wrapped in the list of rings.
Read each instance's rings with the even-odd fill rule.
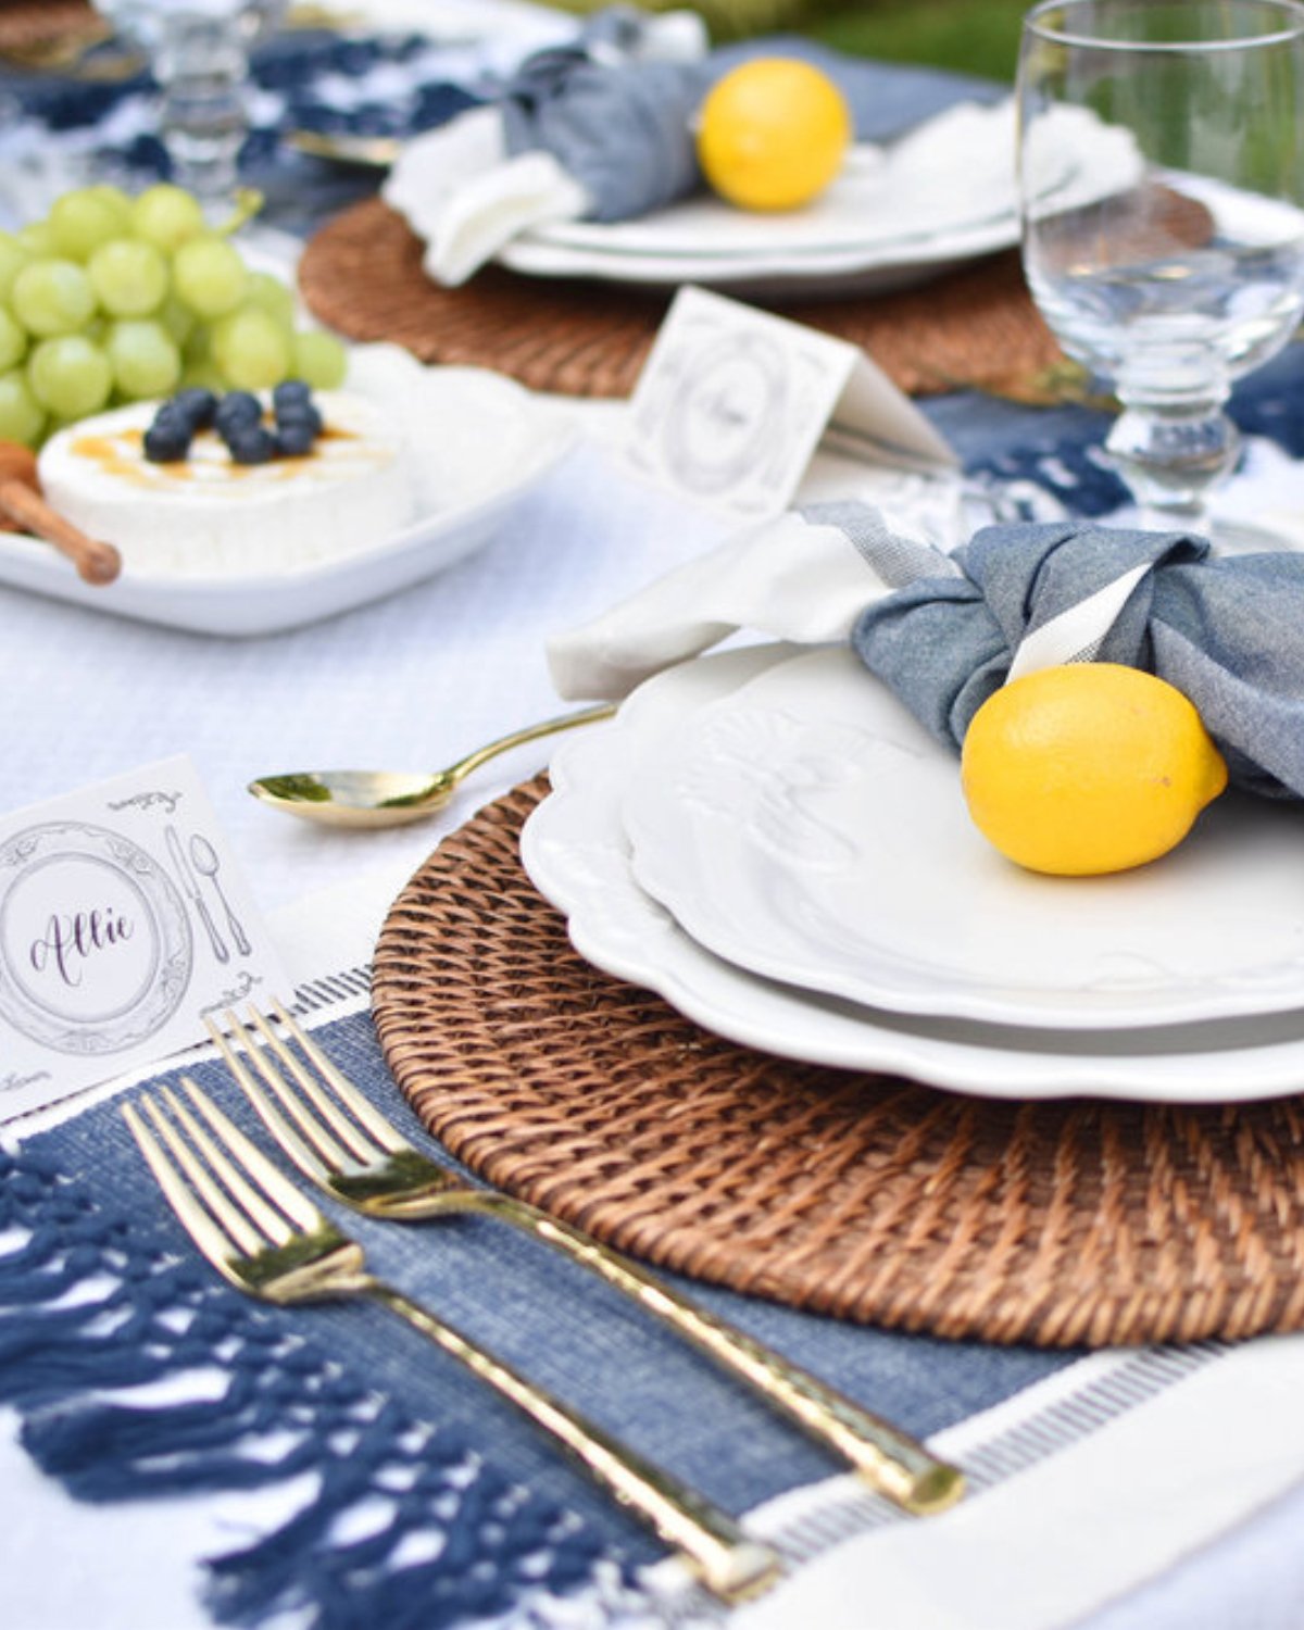
[[[1152,866],[1046,877],[844,647],[696,712],[623,802],[639,885],[751,973],[898,1012],[1117,1029],[1304,999],[1304,815],[1229,794]]]

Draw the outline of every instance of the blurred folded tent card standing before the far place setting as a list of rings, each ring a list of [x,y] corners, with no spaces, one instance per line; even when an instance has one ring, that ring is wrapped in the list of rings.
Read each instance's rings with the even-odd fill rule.
[[[789,507],[826,434],[867,465],[958,465],[857,346],[704,289],[678,292],[631,401],[623,453],[634,473],[763,518]]]

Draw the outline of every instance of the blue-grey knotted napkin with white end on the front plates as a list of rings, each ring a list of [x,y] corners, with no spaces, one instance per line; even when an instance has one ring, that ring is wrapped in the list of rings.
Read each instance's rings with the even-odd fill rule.
[[[727,540],[549,641],[562,696],[624,696],[738,631],[849,641],[958,748],[1006,680],[1120,662],[1190,698],[1232,782],[1304,797],[1304,556],[1219,557],[1180,531],[986,526],[947,554],[864,504],[815,504]]]

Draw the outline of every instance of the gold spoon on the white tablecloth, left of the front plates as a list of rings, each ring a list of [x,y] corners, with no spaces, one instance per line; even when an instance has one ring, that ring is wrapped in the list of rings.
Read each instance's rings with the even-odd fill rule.
[[[584,712],[544,719],[476,748],[447,769],[434,774],[403,774],[391,769],[319,769],[290,776],[262,776],[249,792],[274,810],[313,820],[323,826],[406,826],[442,810],[461,781],[481,764],[523,747],[541,735],[574,730],[580,724],[610,719],[615,706],[585,707]]]

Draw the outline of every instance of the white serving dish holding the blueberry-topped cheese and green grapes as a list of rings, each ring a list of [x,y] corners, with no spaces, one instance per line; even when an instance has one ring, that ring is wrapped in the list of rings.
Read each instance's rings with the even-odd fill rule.
[[[355,346],[346,390],[390,409],[408,438],[417,512],[396,536],[359,538],[315,566],[194,577],[122,575],[96,588],[47,543],[0,533],[0,584],[200,634],[300,628],[381,600],[489,543],[574,447],[577,430],[523,386],[481,368],[424,367],[398,346]]]

